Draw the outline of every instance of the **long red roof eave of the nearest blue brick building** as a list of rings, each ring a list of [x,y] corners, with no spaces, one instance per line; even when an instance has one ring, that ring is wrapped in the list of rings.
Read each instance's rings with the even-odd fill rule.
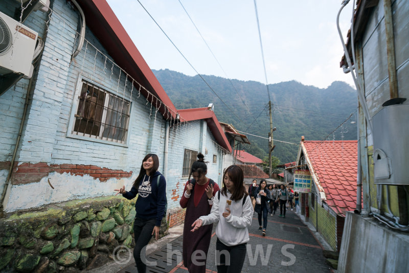
[[[105,0],[79,0],[78,2],[84,11],[86,25],[113,60],[135,81],[138,81],[163,104],[166,104],[172,117],[175,118],[176,107],[108,3]],[[135,87],[139,88],[139,85],[135,84]],[[148,93],[143,88],[141,88],[141,93],[143,96],[148,97]],[[156,103],[151,95],[148,100],[154,104]],[[159,110],[162,115],[168,116],[165,106],[161,106]]]

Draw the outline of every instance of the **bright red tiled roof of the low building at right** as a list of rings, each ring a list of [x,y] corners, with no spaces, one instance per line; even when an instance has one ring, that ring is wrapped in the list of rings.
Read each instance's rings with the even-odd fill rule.
[[[311,174],[325,192],[326,203],[345,215],[356,207],[357,141],[302,141]],[[314,178],[315,179],[315,178]]]

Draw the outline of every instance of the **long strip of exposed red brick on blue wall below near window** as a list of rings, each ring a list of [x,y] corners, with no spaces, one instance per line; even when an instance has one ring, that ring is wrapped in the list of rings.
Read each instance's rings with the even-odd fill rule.
[[[0,165],[1,166],[1,165]],[[10,163],[9,163],[10,167]],[[28,184],[41,180],[42,177],[48,176],[51,172],[71,173],[71,175],[84,176],[89,175],[94,179],[99,179],[104,182],[110,178],[121,179],[123,177],[131,177],[132,171],[126,172],[123,170],[111,170],[101,168],[94,165],[78,165],[78,164],[50,164],[45,162],[40,163],[21,163],[16,162],[11,175],[11,183],[13,185]]]

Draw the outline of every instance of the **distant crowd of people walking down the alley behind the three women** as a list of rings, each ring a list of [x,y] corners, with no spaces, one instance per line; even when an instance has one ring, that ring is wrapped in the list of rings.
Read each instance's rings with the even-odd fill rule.
[[[268,185],[265,179],[261,179],[257,185],[257,179],[253,179],[252,185],[248,187],[248,195],[251,196],[254,211],[258,213],[259,231],[263,236],[266,235],[267,216],[276,214],[280,206],[279,217],[285,218],[286,207],[291,207],[291,211],[299,204],[299,193],[294,192],[291,187],[280,188],[276,184]],[[294,202],[294,203],[293,203]]]

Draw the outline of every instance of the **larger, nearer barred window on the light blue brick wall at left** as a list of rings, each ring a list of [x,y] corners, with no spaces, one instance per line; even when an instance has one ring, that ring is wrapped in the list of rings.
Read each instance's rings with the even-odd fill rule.
[[[73,134],[125,144],[130,101],[82,80]]]

